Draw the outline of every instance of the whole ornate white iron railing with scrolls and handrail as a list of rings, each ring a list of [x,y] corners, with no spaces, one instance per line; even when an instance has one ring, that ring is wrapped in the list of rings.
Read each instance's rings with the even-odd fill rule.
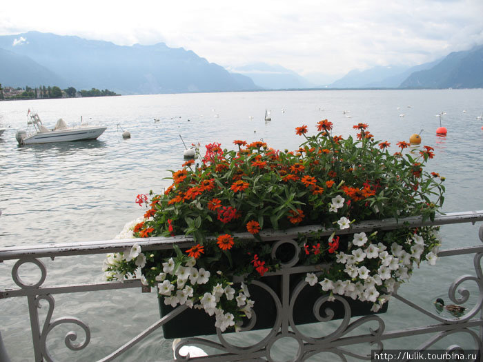
[[[455,223],[475,223],[477,221],[483,221],[483,211],[475,212],[457,212],[442,215],[436,217],[434,221],[424,221],[418,217],[400,219],[395,221],[394,219],[387,219],[383,221],[364,221],[362,223],[351,225],[350,229],[347,230],[337,230],[337,234],[349,234],[354,232],[370,232],[371,230],[391,230],[398,227],[412,226],[417,227],[420,225],[448,225]],[[264,241],[277,241],[273,244],[273,252],[275,249],[282,245],[283,243],[294,244],[294,240],[297,239],[299,232],[310,232],[317,230],[317,226],[313,227],[301,227],[292,228],[285,232],[273,231],[273,232],[262,232],[261,237]],[[326,230],[326,234],[330,235],[333,230]],[[239,238],[248,238],[250,234],[237,234],[235,235]],[[483,226],[479,229],[479,239],[483,242]],[[96,292],[101,290],[116,290],[125,288],[139,288],[143,289],[139,280],[125,281],[124,283],[111,282],[111,283],[83,283],[75,285],[45,285],[46,276],[48,270],[46,264],[43,263],[42,258],[50,258],[52,260],[59,257],[71,257],[77,255],[85,254],[105,254],[110,252],[121,252],[126,250],[126,248],[132,247],[134,243],[138,243],[142,250],[160,250],[172,248],[172,244],[176,243],[179,247],[187,247],[193,245],[193,241],[186,237],[154,237],[148,239],[129,239],[122,241],[95,241],[86,243],[69,243],[69,244],[45,244],[35,247],[10,247],[0,249],[0,263],[6,260],[16,261],[12,267],[11,274],[12,280],[19,288],[0,290],[0,299],[12,299],[17,300],[19,297],[24,297],[28,303],[28,312],[30,315],[30,333],[32,335],[32,343],[34,350],[34,361],[53,361],[53,357],[48,350],[48,334],[57,325],[64,324],[75,324],[83,330],[85,336],[82,343],[75,343],[77,339],[77,334],[74,332],[69,332],[65,336],[65,343],[70,350],[83,350],[87,348],[91,338],[97,339],[102,338],[102,336],[93,336],[89,326],[76,317],[62,317],[52,320],[52,314],[55,309],[55,296],[57,294],[69,294],[73,292]],[[423,336],[427,334],[431,338],[424,343],[421,343],[414,351],[426,350],[431,348],[437,341],[453,333],[466,333],[471,340],[473,340],[474,345],[473,350],[482,351],[483,345],[483,272],[481,267],[481,259],[483,257],[483,245],[469,246],[466,248],[457,248],[451,250],[443,250],[439,252],[438,257],[455,257],[457,255],[473,254],[473,264],[474,264],[474,274],[466,274],[459,277],[455,277],[453,283],[449,286],[449,299],[453,303],[462,304],[466,303],[470,299],[470,292],[464,288],[461,288],[461,284],[466,281],[473,281],[477,287],[477,296],[472,296],[471,301],[475,301],[474,305],[462,316],[451,317],[444,316],[444,314],[437,314],[426,310],[420,305],[417,305],[411,299],[406,298],[398,294],[397,291],[393,292],[393,297],[398,301],[404,303],[404,305],[413,309],[414,314],[420,313],[428,317],[433,321],[430,325],[417,326],[415,328],[406,328],[403,330],[386,330],[386,324],[380,315],[373,314],[367,316],[354,317],[351,314],[351,307],[348,305],[345,299],[335,296],[337,301],[342,303],[344,307],[344,316],[340,319],[339,326],[337,329],[320,338],[315,338],[308,336],[301,332],[299,328],[293,323],[293,308],[295,304],[295,299],[305,287],[306,282],[297,282],[297,285],[290,286],[290,275],[300,272],[308,272],[311,270],[317,270],[317,266],[311,267],[297,267],[298,261],[297,252],[295,252],[294,258],[282,265],[281,270],[278,272],[267,273],[267,275],[278,275],[281,278],[281,292],[276,294],[273,292],[270,286],[262,283],[261,281],[255,281],[256,285],[260,288],[266,290],[272,297],[277,309],[277,317],[273,328],[269,330],[268,334],[249,347],[239,347],[230,343],[219,330],[217,330],[218,341],[213,341],[212,339],[204,339],[201,337],[188,338],[178,343],[175,353],[178,358],[181,359],[179,355],[179,348],[183,345],[196,344],[204,345],[210,348],[210,350],[217,350],[218,352],[211,354],[208,357],[200,357],[196,360],[200,361],[246,361],[246,360],[257,360],[257,361],[273,361],[270,354],[270,349],[273,345],[280,339],[291,339],[295,341],[298,345],[298,350],[295,353],[293,361],[305,361],[310,359],[317,354],[322,352],[329,352],[333,356],[337,356],[341,361],[347,361],[346,357],[351,356],[357,359],[371,359],[370,354],[362,354],[357,352],[352,352],[346,350],[346,347],[350,345],[357,345],[359,343],[369,343],[373,350],[379,352],[384,351],[384,341],[389,341],[391,339],[400,339],[406,336]],[[40,276],[35,283],[28,284],[22,281],[19,276],[19,268],[23,264],[33,264],[37,265],[39,268]],[[0,265],[1,267],[1,265]],[[101,270],[101,265],[99,265],[99,272]],[[411,283],[417,283],[417,281],[412,281]],[[144,288],[144,292],[149,292],[150,290]],[[460,294],[457,296],[457,293]],[[40,301],[46,301],[48,303],[48,312],[45,321],[40,323],[38,308],[40,306]],[[321,298],[317,301],[317,308],[320,308],[326,302],[326,297]],[[256,303],[256,301],[255,301]],[[316,310],[317,308],[314,308]],[[119,356],[122,356],[124,352],[132,348],[138,342],[146,339],[146,336],[158,330],[162,325],[168,321],[175,319],[179,314],[186,310],[186,306],[179,306],[175,308],[166,316],[163,316],[158,321],[153,323],[149,328],[140,332],[135,338],[130,341],[126,341],[117,350],[111,352],[107,356],[102,356],[98,361],[112,361]],[[101,312],[101,311],[99,311]],[[327,311],[326,311],[327,312]],[[2,319],[2,312],[0,311],[0,320]],[[316,314],[316,312],[314,312]],[[318,314],[318,312],[317,312]],[[330,311],[329,311],[330,314]],[[352,316],[352,319],[351,319]],[[321,325],[325,321],[329,321],[331,318],[322,317],[320,315],[316,316]],[[372,325],[377,325],[377,329],[370,329],[370,332],[366,334],[353,333],[355,328],[365,324],[372,323]],[[5,332],[5,326],[0,323],[0,332]],[[244,332],[240,332],[244,333]],[[0,335],[0,361],[3,359],[7,360],[7,356],[2,356],[5,354],[2,352],[1,348],[1,335]],[[8,347],[8,346],[7,346]],[[451,350],[454,350],[457,346],[452,345]],[[8,350],[8,348],[7,348]],[[3,359],[2,359],[3,358]],[[480,359],[480,356],[478,356]],[[119,360],[122,360],[121,357]]]

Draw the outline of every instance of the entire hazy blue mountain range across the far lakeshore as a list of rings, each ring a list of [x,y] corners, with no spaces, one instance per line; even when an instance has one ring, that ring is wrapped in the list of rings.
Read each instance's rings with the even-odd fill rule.
[[[483,46],[452,52],[417,66],[376,66],[330,79],[302,77],[278,65],[253,63],[224,68],[184,48],[165,43],[117,46],[50,33],[0,36],[3,86],[69,86],[109,89],[120,94],[228,92],[304,88],[483,88]],[[228,69],[228,70],[227,70]],[[317,76],[317,77],[316,77]]]

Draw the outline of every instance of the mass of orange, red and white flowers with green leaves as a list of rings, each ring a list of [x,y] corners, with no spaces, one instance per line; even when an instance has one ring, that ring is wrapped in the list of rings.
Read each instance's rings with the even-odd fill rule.
[[[301,263],[330,267],[308,273],[307,283],[331,296],[342,294],[373,302],[373,310],[381,308],[396,285],[409,279],[413,263],[435,262],[437,228],[346,236],[336,235],[337,230],[371,219],[433,219],[444,202],[444,178],[424,170],[434,156],[429,146],[412,150],[401,141],[400,151],[390,154],[390,144],[375,141],[364,123],[354,125],[356,138],[347,139],[333,136],[332,126],[319,121],[311,137],[306,125],[297,127],[304,142],[295,152],[273,150],[261,141],[234,141],[238,150],[206,145],[201,167],[187,161],[172,171],[172,185],[164,194],[150,192],[150,202],[147,195],[138,195],[139,205],[149,208],[142,221],[124,230],[141,238],[192,235],[193,247],[145,255],[135,245],[110,254],[104,265],[108,279],[133,276],[140,267],[141,280],[158,285],[165,303],[188,303],[215,314],[221,330],[237,328],[250,316],[247,305],[253,301],[243,285],[232,292],[233,276],[249,283],[277,270],[284,259],[283,250],[271,256],[271,245],[259,242],[259,232],[319,224],[336,231],[328,238],[317,232],[299,235]],[[236,239],[235,232],[253,238]],[[201,270],[210,275],[204,283],[197,281]]]

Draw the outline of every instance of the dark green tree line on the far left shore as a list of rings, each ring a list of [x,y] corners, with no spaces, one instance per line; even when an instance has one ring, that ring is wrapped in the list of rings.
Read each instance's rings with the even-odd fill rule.
[[[75,97],[106,97],[117,96],[115,92],[108,89],[98,90],[92,88],[91,90],[77,90],[74,87],[69,87],[64,90],[57,86],[39,86],[38,88],[10,88],[8,87],[8,94],[4,92],[0,83],[0,99],[52,99],[52,98],[75,98]],[[12,90],[13,93],[12,94]],[[6,90],[5,90],[6,91]]]

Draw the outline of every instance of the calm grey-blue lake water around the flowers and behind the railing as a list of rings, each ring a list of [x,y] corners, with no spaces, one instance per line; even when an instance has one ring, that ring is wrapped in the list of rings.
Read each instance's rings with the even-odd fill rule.
[[[29,108],[48,127],[59,118],[78,124],[82,117],[84,122],[108,125],[108,129],[95,141],[20,148],[14,134],[26,128]],[[270,110],[271,121],[264,121],[265,110]],[[446,112],[442,125],[448,129],[447,137],[435,134],[440,126],[435,114],[440,112]],[[170,185],[164,179],[170,177],[167,170],[177,170],[184,162],[179,135],[187,145],[199,142],[203,149],[213,141],[234,148],[234,139],[263,139],[273,148],[293,150],[302,142],[295,136],[295,127],[306,124],[313,132],[321,119],[332,121],[334,134],[344,136],[355,135],[352,125],[368,123],[375,138],[390,142],[394,152],[397,141],[408,141],[411,134],[421,132],[422,144],[435,148],[428,170],[446,177],[444,211],[483,210],[483,121],[476,118],[482,112],[483,90],[233,92],[3,101],[0,123],[11,128],[0,137],[0,248],[112,239],[126,222],[144,213],[134,202],[137,194],[161,192]],[[121,128],[132,138],[123,139]],[[478,227],[445,226],[444,248],[477,245]],[[102,257],[73,259],[46,261],[46,283],[103,281]],[[474,274],[471,266],[472,260],[463,257],[442,259],[433,268],[422,265],[411,283],[402,287],[404,295],[413,295],[413,301],[433,308],[435,297],[445,296],[456,276]],[[11,268],[10,262],[0,263],[2,288],[14,288]],[[26,300],[1,300],[0,311],[0,332],[12,361],[31,361]],[[70,329],[52,331],[48,346],[53,356],[94,361],[154,323],[157,300],[154,293],[139,290],[57,296],[54,318],[66,315],[88,323],[92,340],[86,350],[71,352],[63,346],[63,336]],[[384,321],[386,330],[391,330],[428,319],[391,300]],[[259,336],[243,338],[250,342]],[[459,340],[452,336],[441,348],[454,341]],[[409,339],[385,343],[385,348],[415,348],[420,343]],[[119,361],[170,358],[171,341],[158,331]]]

